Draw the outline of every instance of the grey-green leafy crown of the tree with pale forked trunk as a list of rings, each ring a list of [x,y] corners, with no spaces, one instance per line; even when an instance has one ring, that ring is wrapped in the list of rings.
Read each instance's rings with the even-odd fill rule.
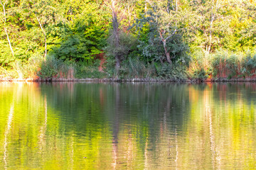
[[[182,37],[182,21],[177,23],[172,14],[166,12],[161,4],[154,4],[151,10],[134,23],[134,27],[139,30],[138,47],[146,60],[167,62],[166,52],[170,53],[173,61],[180,60],[181,57],[188,58],[188,45]]]

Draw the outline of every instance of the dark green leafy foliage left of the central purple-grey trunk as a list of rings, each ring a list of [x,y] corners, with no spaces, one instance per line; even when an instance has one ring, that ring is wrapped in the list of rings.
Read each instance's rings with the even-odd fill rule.
[[[105,45],[105,31],[94,24],[91,16],[84,16],[67,26],[63,38],[50,51],[61,60],[92,62],[95,55],[102,53]]]

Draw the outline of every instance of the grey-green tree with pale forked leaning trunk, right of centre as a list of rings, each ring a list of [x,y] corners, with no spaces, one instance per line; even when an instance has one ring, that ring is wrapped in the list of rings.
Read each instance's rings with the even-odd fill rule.
[[[159,60],[162,64],[173,64],[172,60],[178,60],[188,50],[182,40],[185,21],[186,13],[178,12],[177,7],[170,8],[169,3],[164,1],[151,2],[144,16],[134,23],[139,29],[140,37],[143,37],[145,30],[147,32],[147,39],[140,41],[139,45],[142,53],[148,57],[153,55],[154,60]]]

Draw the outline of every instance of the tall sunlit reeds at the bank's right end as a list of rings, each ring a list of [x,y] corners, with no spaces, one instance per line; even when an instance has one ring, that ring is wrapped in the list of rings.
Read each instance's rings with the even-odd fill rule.
[[[192,59],[188,69],[191,78],[255,78],[256,52],[198,52]]]

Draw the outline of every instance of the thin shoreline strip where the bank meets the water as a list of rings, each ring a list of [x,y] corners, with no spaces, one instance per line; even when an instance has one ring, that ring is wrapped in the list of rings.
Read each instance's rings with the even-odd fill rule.
[[[114,79],[114,78],[85,78],[85,79],[0,79],[0,81],[28,81],[28,82],[61,82],[61,81],[95,81],[95,82],[256,82],[256,78],[216,78],[216,79],[154,79],[154,78],[134,78],[134,79]]]

